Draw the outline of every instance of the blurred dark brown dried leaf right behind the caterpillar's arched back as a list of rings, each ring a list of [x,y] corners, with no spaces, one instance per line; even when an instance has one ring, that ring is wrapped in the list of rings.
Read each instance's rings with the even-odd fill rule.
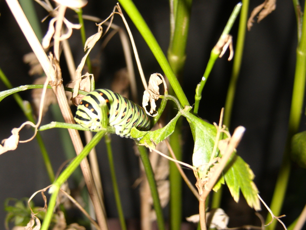
[[[126,68],[116,71],[110,89],[125,98],[129,98],[129,86],[129,73]]]

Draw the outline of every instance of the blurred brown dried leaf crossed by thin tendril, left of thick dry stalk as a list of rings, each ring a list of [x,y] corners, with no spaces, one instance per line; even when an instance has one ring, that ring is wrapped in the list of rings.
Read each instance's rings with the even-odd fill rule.
[[[35,85],[43,85],[46,81],[46,76],[44,77],[40,77],[35,79],[35,81],[33,82],[33,84]],[[32,90],[32,104],[34,107],[34,112],[37,116],[38,112],[39,112],[39,106],[40,106],[40,100],[41,100],[41,95],[42,95],[43,89],[42,88],[36,88]],[[52,89],[47,89],[46,90],[46,96],[45,96],[45,101],[43,103],[43,112],[42,112],[42,116],[44,116],[46,114],[46,112],[49,109],[49,105],[51,104],[56,104],[57,100],[56,97],[54,95],[54,92]]]

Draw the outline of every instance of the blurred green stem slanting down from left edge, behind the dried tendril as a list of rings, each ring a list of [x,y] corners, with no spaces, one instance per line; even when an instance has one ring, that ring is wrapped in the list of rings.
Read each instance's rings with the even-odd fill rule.
[[[1,68],[0,68],[0,79],[2,80],[2,82],[5,84],[5,86],[7,88],[9,88],[9,89],[13,88],[11,82],[9,82],[9,79],[7,79],[6,75],[3,73]],[[32,123],[35,124],[36,122],[35,122],[35,119],[34,119],[34,116],[33,116],[33,111],[31,109],[31,105],[28,102],[24,103],[24,101],[22,100],[20,95],[17,94],[17,93],[13,94],[13,98],[15,99],[15,101],[17,102],[17,104],[19,105],[21,110],[23,111],[24,115],[27,117],[28,121],[31,121]],[[39,148],[40,148],[40,151],[41,151],[41,154],[42,154],[42,157],[43,157],[43,161],[45,163],[45,167],[46,167],[50,182],[52,183],[52,182],[54,182],[54,178],[55,178],[54,172],[53,172],[53,169],[52,169],[52,165],[51,165],[51,162],[50,162],[50,158],[49,158],[47,149],[46,149],[46,147],[43,143],[43,139],[42,139],[39,132],[37,132],[37,134],[36,134],[36,140],[37,140],[37,143],[39,145]]]

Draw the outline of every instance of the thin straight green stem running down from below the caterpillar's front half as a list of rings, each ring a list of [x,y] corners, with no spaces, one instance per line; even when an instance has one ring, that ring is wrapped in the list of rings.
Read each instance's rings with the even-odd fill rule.
[[[106,144],[106,149],[107,149],[108,161],[110,163],[110,174],[111,174],[112,182],[113,182],[114,196],[116,200],[121,230],[126,230],[126,224],[125,224],[124,214],[123,214],[121,200],[120,200],[120,193],[119,193],[119,188],[118,188],[117,179],[116,179],[113,152],[112,152],[112,147],[110,145],[110,136],[105,135],[104,138],[105,138],[105,144]]]

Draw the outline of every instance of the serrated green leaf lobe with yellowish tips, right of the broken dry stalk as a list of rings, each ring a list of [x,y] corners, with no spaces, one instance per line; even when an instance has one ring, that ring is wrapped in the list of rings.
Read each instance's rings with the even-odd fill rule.
[[[253,182],[254,173],[250,166],[240,156],[233,155],[223,172],[226,185],[234,200],[239,201],[239,191],[241,190],[248,205],[255,210],[261,210],[257,197],[258,189]]]

